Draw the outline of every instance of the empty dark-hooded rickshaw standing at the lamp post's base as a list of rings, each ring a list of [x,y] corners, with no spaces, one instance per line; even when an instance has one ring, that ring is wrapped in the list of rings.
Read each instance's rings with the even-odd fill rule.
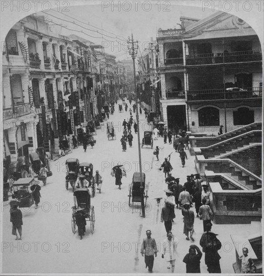
[[[148,189],[145,187],[145,180],[146,180],[146,176],[144,173],[134,173],[133,174],[133,180],[132,180],[132,184],[130,184],[129,186],[129,199],[128,199],[128,204],[130,205],[130,202],[132,201],[132,213],[133,213],[133,207],[134,207],[134,202],[141,202],[141,191],[140,191],[140,178],[142,179],[142,186],[144,188],[144,192],[143,192],[143,197],[145,198],[145,206],[147,203],[147,191]]]

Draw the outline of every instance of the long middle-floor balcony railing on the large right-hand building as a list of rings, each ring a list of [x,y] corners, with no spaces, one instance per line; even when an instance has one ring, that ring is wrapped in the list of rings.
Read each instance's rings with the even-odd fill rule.
[[[244,99],[244,98],[261,98],[262,90],[259,87],[249,88],[228,88],[224,89],[209,89],[209,90],[191,90],[187,92],[188,101],[202,100],[229,100],[229,99]]]

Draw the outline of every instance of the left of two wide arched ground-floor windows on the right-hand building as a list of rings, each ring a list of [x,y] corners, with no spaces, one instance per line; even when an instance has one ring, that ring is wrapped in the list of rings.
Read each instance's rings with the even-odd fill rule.
[[[215,107],[204,107],[198,111],[199,126],[218,126],[219,110]]]

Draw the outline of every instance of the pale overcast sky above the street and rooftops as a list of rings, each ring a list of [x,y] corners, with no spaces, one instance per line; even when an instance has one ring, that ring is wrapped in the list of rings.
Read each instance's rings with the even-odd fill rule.
[[[202,7],[176,5],[177,3],[173,1],[143,1],[140,3],[125,1],[116,2],[116,6],[111,1],[97,3],[100,4],[69,6],[65,12],[51,10],[38,14],[44,15],[46,19],[68,29],[78,31],[74,32],[59,27],[60,34],[76,34],[95,44],[103,45],[107,53],[117,56],[117,60],[124,60],[130,59],[129,54],[124,50],[127,50],[126,40],[128,36],[131,37],[131,32],[133,32],[134,39],[139,41],[142,52],[151,37],[155,40],[159,28],[179,29],[181,16],[203,19],[215,13],[206,9],[202,11]],[[103,33],[103,38],[100,33]]]

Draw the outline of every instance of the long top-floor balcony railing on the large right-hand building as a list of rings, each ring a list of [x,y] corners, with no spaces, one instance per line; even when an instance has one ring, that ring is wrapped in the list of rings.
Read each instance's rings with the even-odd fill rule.
[[[186,65],[217,64],[261,61],[262,55],[259,51],[239,51],[231,53],[208,53],[197,54],[186,57]]]

